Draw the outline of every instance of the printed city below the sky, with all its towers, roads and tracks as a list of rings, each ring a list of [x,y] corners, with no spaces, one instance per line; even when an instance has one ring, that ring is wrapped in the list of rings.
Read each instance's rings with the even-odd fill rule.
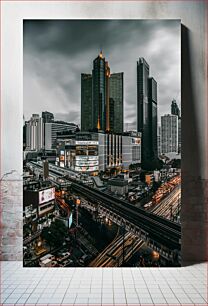
[[[24,118],[23,265],[180,266],[179,97],[159,111],[158,72],[140,54],[127,121],[126,72],[104,47],[93,53],[78,75],[80,121],[44,104]]]

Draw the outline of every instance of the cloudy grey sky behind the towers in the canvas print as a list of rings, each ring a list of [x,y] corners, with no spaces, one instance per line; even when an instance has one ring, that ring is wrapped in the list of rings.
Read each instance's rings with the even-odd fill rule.
[[[179,20],[25,20],[24,116],[54,113],[80,124],[81,73],[103,50],[111,72],[124,72],[124,123],[136,122],[136,62],[144,57],[158,85],[158,121],[180,106]]]

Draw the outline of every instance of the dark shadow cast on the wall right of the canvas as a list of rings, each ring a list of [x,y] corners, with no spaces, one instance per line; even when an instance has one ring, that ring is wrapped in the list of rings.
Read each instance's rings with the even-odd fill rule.
[[[206,182],[200,176],[204,162],[200,156],[197,100],[194,92],[194,71],[190,49],[191,32],[181,26],[181,108],[182,108],[182,208],[181,230],[182,265],[200,263],[208,259]],[[205,166],[205,165],[204,165]]]

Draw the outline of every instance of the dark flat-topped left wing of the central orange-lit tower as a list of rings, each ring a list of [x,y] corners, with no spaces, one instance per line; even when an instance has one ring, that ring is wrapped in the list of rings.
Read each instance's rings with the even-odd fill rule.
[[[93,128],[92,107],[92,75],[81,74],[81,129],[88,131]]]

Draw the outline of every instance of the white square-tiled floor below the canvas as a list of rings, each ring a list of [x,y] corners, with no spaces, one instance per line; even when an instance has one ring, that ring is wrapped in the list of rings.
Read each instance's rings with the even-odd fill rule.
[[[208,305],[207,264],[132,269],[0,264],[1,305]]]

